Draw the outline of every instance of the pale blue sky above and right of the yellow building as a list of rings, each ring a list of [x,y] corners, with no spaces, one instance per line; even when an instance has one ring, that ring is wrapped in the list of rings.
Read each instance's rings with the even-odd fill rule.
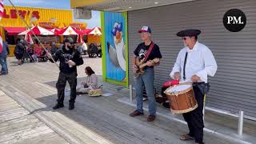
[[[70,0],[11,0],[11,2],[14,3],[14,6],[29,6],[70,10]],[[4,5],[10,6],[10,2],[8,0],[4,0]],[[86,22],[88,23],[88,28],[93,28],[94,26],[100,27],[100,19],[100,13],[98,11],[93,11],[91,19],[74,21]]]

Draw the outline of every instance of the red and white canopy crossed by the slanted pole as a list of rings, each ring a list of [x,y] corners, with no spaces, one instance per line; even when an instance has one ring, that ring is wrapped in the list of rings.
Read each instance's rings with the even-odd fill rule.
[[[46,30],[45,28],[42,28],[41,26],[33,26],[31,28],[31,30],[30,29],[25,30],[18,35],[32,34],[31,31],[33,31],[34,34],[37,34],[37,35],[54,35],[54,32],[51,32],[50,30]]]

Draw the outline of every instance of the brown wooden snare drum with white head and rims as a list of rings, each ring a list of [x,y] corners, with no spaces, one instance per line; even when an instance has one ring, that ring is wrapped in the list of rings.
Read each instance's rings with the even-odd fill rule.
[[[170,111],[173,114],[187,113],[198,107],[191,84],[180,83],[170,86],[164,93],[169,100]]]

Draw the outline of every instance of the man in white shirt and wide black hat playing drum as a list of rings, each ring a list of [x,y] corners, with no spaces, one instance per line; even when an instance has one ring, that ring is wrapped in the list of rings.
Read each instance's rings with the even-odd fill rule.
[[[203,143],[203,99],[204,93],[199,89],[197,83],[207,83],[207,76],[211,77],[217,71],[217,63],[210,49],[198,42],[200,30],[182,30],[177,33],[182,37],[185,47],[179,51],[178,58],[174,64],[170,77],[180,81],[192,81],[198,108],[183,114],[190,133],[181,136],[181,140],[195,139],[196,143]]]

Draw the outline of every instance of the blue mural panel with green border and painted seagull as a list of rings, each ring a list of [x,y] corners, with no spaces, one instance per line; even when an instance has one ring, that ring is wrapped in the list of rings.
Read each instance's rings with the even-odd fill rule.
[[[102,14],[103,80],[128,85],[126,13]]]

